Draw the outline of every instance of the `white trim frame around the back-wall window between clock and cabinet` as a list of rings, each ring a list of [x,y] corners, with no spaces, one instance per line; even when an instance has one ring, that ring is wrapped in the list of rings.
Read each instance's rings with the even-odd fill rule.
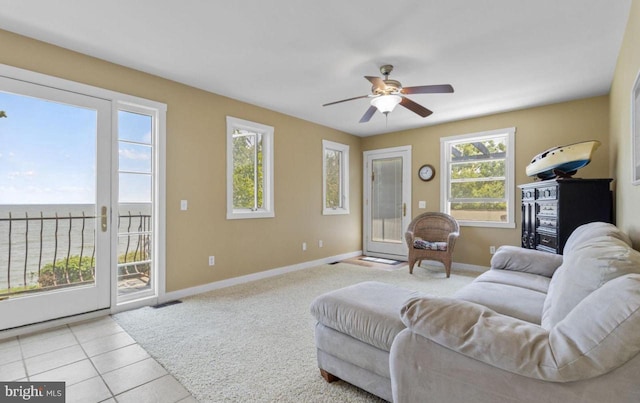
[[[451,188],[451,178],[449,173],[450,161],[448,159],[448,145],[457,142],[467,142],[469,139],[478,137],[492,137],[496,135],[507,135],[507,155],[505,157],[507,177],[505,181],[506,198],[507,198],[507,221],[464,221],[459,220],[461,226],[468,227],[493,227],[493,228],[515,228],[515,127],[507,127],[504,129],[489,130],[484,132],[469,133],[459,136],[450,136],[440,138],[440,172],[442,172],[442,180],[440,181],[440,209],[443,213],[449,214],[449,190]]]

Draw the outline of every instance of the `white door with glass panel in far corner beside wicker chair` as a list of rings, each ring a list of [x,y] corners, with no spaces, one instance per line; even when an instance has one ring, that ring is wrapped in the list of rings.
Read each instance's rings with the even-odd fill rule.
[[[364,253],[406,259],[411,218],[411,147],[364,153]]]

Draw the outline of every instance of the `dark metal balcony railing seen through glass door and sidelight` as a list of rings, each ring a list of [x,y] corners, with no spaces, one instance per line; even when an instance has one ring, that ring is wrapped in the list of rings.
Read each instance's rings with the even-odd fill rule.
[[[0,218],[0,299],[94,281],[96,216],[68,213]],[[151,216],[118,216],[119,289],[149,281]]]

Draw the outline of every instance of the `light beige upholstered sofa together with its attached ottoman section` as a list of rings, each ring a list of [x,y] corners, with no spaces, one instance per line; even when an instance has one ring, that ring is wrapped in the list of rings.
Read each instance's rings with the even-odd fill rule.
[[[318,297],[318,364],[395,402],[639,402],[640,252],[591,223],[511,246],[452,298],[382,283]]]

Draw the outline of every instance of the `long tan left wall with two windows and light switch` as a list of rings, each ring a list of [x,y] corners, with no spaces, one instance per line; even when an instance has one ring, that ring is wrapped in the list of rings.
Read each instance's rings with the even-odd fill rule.
[[[6,31],[0,48],[0,63],[168,105],[167,291],[361,249],[360,138]],[[226,219],[227,115],[275,128],[275,218]],[[351,146],[349,215],[321,215],[322,139]]]

